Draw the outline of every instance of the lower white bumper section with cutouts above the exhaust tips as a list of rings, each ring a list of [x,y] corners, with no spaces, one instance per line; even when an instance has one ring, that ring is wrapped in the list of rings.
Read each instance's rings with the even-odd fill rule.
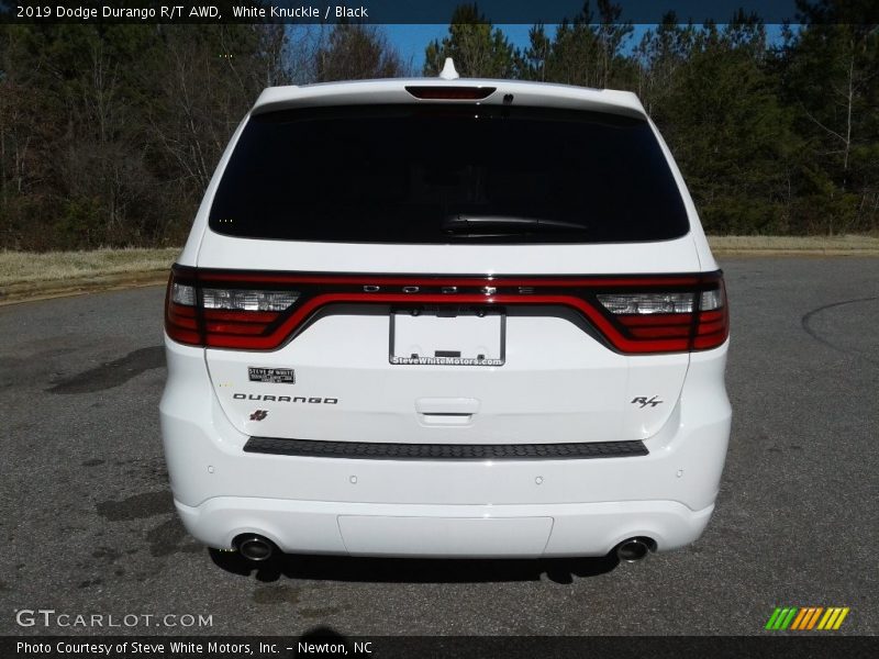
[[[249,532],[288,552],[437,558],[603,556],[634,536],[676,549],[700,536],[714,510],[675,501],[415,505],[240,496],[176,505],[187,530],[213,547]]]

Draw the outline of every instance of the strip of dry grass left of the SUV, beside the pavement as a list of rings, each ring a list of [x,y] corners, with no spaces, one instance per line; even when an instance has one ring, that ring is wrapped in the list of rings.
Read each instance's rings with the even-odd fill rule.
[[[167,271],[180,254],[167,249],[96,249],[92,252],[0,252],[0,286],[67,281],[107,275]]]

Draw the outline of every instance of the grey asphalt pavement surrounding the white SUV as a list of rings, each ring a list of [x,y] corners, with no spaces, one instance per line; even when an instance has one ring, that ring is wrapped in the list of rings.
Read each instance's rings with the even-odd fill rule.
[[[287,557],[189,538],[158,429],[162,287],[0,309],[0,634],[761,634],[775,606],[879,633],[879,259],[737,258],[734,422],[708,530],[636,565]],[[20,627],[15,611],[211,616]],[[179,619],[179,618],[178,618]],[[188,619],[188,618],[187,618]]]

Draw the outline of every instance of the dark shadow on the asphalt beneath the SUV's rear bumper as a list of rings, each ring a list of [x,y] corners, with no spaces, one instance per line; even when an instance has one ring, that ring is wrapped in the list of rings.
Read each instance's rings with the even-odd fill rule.
[[[577,578],[605,574],[620,565],[616,556],[553,559],[424,559],[361,558],[347,556],[275,555],[252,562],[236,551],[208,550],[221,569],[241,577],[272,582],[282,577],[308,581],[370,583],[489,583],[552,581],[571,583]]]

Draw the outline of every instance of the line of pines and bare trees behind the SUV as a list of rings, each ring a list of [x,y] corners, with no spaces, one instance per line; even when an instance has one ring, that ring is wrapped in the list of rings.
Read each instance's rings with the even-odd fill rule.
[[[711,233],[876,233],[879,26],[859,2],[801,2],[772,38],[741,12],[635,38],[597,0],[524,47],[463,4],[423,71],[363,24],[2,25],[0,247],[178,245],[263,88],[435,76],[447,56],[466,77],[636,92]]]

